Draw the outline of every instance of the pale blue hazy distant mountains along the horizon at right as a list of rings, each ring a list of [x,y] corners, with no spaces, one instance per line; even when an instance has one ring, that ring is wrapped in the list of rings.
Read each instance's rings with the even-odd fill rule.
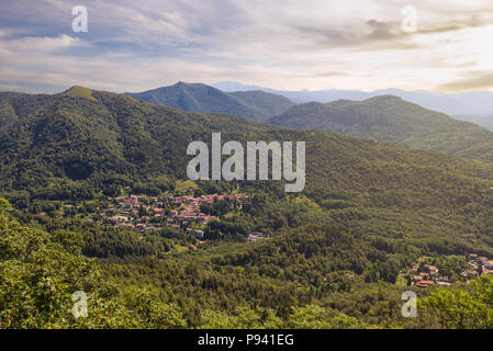
[[[336,100],[362,101],[373,97],[390,94],[417,103],[426,109],[447,113],[458,120],[469,121],[488,128],[493,128],[493,92],[491,91],[469,91],[453,94],[425,90],[404,91],[400,89],[383,89],[368,92],[340,89],[283,91],[257,86],[246,86],[232,81],[221,81],[212,86],[226,92],[261,90],[283,95],[296,103],[312,101],[327,103]]]

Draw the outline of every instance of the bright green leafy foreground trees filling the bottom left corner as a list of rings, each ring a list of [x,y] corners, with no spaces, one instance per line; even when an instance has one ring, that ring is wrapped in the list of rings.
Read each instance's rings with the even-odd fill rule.
[[[0,199],[0,328],[186,327],[181,312],[153,292],[104,279],[81,254],[81,235],[24,227],[9,211]]]

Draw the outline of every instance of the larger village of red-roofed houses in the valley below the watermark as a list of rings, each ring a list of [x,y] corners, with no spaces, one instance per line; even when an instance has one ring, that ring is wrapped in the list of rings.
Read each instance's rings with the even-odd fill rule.
[[[208,194],[198,197],[168,196],[167,199],[147,197],[145,195],[128,195],[108,197],[112,206],[100,213],[101,225],[110,224],[117,228],[132,228],[141,231],[163,229],[164,225],[180,230],[186,224],[206,225],[210,220],[219,218],[201,212],[202,204],[212,205],[216,201],[229,200],[242,204],[245,194],[221,195]],[[175,208],[167,211],[167,208]],[[152,222],[153,224],[149,224]],[[197,230],[202,233],[202,230]]]

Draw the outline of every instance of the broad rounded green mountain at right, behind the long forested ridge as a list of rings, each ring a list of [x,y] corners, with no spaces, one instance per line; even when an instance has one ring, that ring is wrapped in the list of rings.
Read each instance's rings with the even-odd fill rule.
[[[339,100],[326,104],[300,104],[269,122],[290,128],[329,131],[457,157],[493,160],[492,132],[392,95],[360,102]]]

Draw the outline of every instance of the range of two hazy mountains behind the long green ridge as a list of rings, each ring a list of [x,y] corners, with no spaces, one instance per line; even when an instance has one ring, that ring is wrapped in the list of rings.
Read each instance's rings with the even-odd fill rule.
[[[257,88],[238,84],[227,87]],[[493,160],[492,132],[396,95],[377,94],[358,100],[363,94],[352,91],[350,95],[356,100],[295,104],[285,97],[261,90],[223,92],[202,83],[183,82],[127,95],[186,111],[226,113],[287,128],[341,133],[456,157]],[[344,93],[333,91],[333,98],[336,95],[343,97]],[[317,98],[322,98],[322,92]]]

